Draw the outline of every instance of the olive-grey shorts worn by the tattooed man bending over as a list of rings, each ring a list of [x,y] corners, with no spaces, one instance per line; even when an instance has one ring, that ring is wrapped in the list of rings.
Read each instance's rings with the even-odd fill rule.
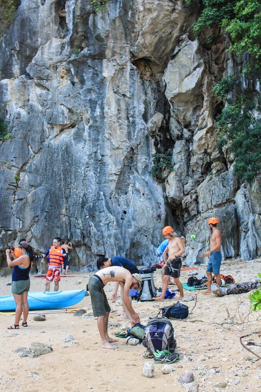
[[[103,290],[104,284],[97,276],[92,276],[88,282],[88,290],[91,295],[94,317],[105,316],[111,311],[108,299]]]

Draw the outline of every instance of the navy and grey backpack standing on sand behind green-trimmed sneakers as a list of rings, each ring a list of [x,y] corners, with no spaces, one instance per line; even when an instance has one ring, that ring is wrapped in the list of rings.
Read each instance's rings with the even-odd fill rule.
[[[171,321],[164,317],[150,319],[144,330],[142,344],[151,354],[157,350],[174,352],[177,342],[174,339],[174,328]]]

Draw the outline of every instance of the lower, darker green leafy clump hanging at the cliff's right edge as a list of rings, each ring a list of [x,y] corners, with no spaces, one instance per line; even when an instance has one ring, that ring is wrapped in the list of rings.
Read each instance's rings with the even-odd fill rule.
[[[234,76],[222,78],[214,88],[228,103],[217,117],[217,147],[229,146],[235,155],[234,175],[251,183],[261,172],[261,95],[234,93],[229,98],[235,83]]]

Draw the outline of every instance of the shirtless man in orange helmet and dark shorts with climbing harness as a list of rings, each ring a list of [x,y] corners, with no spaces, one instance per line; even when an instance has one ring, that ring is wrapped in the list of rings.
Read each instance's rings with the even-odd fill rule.
[[[162,230],[162,234],[165,236],[166,240],[169,240],[167,247],[163,252],[163,258],[165,262],[163,267],[165,268],[165,272],[162,279],[161,295],[153,299],[157,301],[164,301],[169,276],[173,277],[174,283],[176,283],[177,288],[179,289],[180,295],[177,299],[182,299],[184,296],[184,292],[182,284],[179,280],[180,269],[182,265],[180,256],[185,252],[185,248],[181,239],[177,237],[177,233],[174,232],[171,226],[164,227],[164,229]]]

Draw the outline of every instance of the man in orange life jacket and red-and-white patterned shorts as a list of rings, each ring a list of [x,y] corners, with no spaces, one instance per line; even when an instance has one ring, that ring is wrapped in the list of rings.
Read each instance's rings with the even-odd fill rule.
[[[42,257],[48,256],[48,270],[46,274],[46,285],[45,291],[50,291],[51,282],[54,280],[54,291],[59,290],[59,282],[61,280],[60,274],[64,264],[64,257],[66,257],[66,251],[61,246],[61,239],[56,237],[45,253],[42,253]]]

